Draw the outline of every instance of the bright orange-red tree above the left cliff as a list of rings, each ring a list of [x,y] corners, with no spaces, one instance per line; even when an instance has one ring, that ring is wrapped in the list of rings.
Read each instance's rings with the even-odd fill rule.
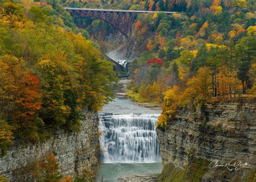
[[[38,110],[42,108],[42,93],[39,93],[39,79],[30,74],[30,71],[21,79],[15,102],[18,111],[14,117],[17,124],[16,130],[19,137],[30,142],[39,140],[37,131],[42,127],[43,121],[38,116]]]

